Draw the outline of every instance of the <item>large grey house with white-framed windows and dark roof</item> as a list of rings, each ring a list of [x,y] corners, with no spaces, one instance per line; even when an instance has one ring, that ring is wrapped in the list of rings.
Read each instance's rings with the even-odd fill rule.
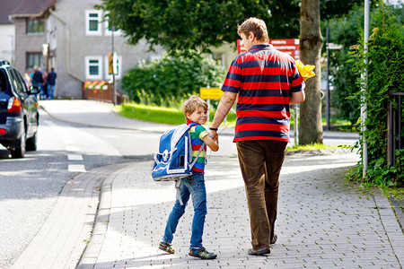
[[[22,73],[35,66],[57,72],[57,98],[85,98],[83,82],[109,81],[108,54],[117,54],[117,80],[141,59],[162,55],[148,51],[142,40],[128,45],[119,30],[110,30],[101,0],[20,0],[10,15],[15,26],[15,67]]]

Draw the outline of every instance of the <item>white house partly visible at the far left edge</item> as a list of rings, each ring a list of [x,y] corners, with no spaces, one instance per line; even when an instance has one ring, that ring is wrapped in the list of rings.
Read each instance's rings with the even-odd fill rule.
[[[3,0],[0,8],[0,59],[14,62],[14,25],[8,15],[17,6],[18,1]]]

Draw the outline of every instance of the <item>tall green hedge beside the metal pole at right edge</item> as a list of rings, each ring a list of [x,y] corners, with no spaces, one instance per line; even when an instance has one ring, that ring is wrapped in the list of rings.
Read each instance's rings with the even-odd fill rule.
[[[395,152],[395,166],[389,166],[386,157],[387,103],[391,100],[388,92],[402,92],[404,89],[404,29],[400,17],[395,17],[394,11],[388,9],[378,9],[373,13],[371,22],[373,34],[368,42],[367,65],[364,65],[363,39],[359,40],[353,52],[356,74],[363,74],[365,70],[368,72],[366,91],[362,94],[362,105],[367,103],[367,118],[364,122],[367,130],[361,133],[368,148],[365,180],[377,186],[391,186],[404,183],[404,150]],[[358,83],[363,85],[364,81],[359,79]],[[393,106],[397,108],[397,104],[393,103]],[[402,111],[401,114],[404,116]],[[404,126],[403,122],[401,125]],[[362,141],[359,152],[362,156]],[[363,166],[363,160],[358,166]],[[362,178],[361,174],[361,169],[356,169],[356,178]]]

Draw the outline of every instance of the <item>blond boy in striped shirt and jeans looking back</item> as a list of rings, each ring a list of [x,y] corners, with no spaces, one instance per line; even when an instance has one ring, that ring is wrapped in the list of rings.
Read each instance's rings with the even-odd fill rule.
[[[189,100],[184,102],[182,110],[187,120],[187,124],[191,126],[189,133],[191,136],[193,160],[195,160],[198,155],[199,149],[203,143],[206,143],[212,151],[217,152],[219,145],[210,138],[204,126],[202,126],[206,123],[207,119],[206,101],[193,95]],[[177,229],[180,217],[185,213],[185,207],[187,206],[189,195],[191,195],[195,214],[192,221],[189,256],[196,256],[201,259],[215,259],[217,255],[207,252],[205,247],[202,247],[202,235],[206,216],[206,189],[204,179],[206,146],[204,150],[205,151],[200,153],[198,161],[195,162],[195,165],[192,168],[192,175],[189,178],[183,178],[180,180],[179,189],[183,204],[180,205],[179,200],[175,201],[159,248],[170,254],[174,253],[174,248],[171,246],[173,234]]]

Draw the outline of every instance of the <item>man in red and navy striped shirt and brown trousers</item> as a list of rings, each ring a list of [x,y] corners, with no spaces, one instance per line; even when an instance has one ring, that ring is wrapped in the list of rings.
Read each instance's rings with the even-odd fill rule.
[[[247,52],[236,56],[224,80],[215,118],[217,128],[237,100],[233,142],[237,145],[250,213],[250,255],[270,253],[275,244],[279,172],[289,142],[289,105],[303,102],[304,82],[294,59],[268,44],[265,22],[250,18],[238,28]]]

